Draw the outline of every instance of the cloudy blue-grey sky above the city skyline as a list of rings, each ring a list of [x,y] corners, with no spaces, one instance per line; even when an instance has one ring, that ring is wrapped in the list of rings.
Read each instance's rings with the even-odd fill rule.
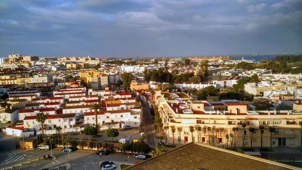
[[[302,52],[301,0],[1,0],[0,57]]]

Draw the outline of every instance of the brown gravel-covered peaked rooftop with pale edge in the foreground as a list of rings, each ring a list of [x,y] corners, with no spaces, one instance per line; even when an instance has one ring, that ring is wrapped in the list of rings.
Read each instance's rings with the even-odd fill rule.
[[[224,151],[199,143],[189,143],[163,155],[147,159],[127,170],[300,169],[237,152]]]

